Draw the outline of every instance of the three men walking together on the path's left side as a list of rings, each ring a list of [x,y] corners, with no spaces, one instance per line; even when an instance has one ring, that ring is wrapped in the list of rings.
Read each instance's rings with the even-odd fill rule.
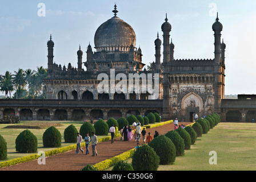
[[[83,150],[81,148],[81,143],[82,143],[82,135],[80,135],[79,133],[77,133],[77,150],[75,151],[75,154],[78,154],[79,153],[79,150],[81,150],[82,154],[83,154]],[[85,137],[85,147],[86,147],[86,151],[85,151],[85,154],[89,154],[89,143],[91,142],[91,148],[92,148],[92,151],[93,151],[93,155],[92,156],[97,156],[98,153],[97,153],[97,150],[96,150],[96,146],[97,146],[97,143],[98,143],[98,138],[97,136],[94,134],[94,132],[91,133],[91,137],[89,137],[89,133],[87,132],[86,133],[86,137]]]

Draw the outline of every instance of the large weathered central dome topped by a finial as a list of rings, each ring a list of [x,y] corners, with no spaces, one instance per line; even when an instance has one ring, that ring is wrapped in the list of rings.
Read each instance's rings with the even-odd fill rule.
[[[94,36],[94,44],[97,52],[115,50],[129,51],[131,45],[135,47],[136,35],[130,24],[124,22],[117,16],[115,5],[115,16],[102,23]]]

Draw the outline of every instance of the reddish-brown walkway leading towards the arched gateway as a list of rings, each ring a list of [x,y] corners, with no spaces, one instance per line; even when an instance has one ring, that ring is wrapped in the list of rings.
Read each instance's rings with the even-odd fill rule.
[[[180,122],[179,124],[188,125],[190,123]],[[158,131],[159,135],[161,135],[166,134],[168,131],[173,129],[174,124],[170,123],[167,125],[154,127],[153,129],[146,129],[146,131],[147,133],[150,132],[152,135],[154,135],[155,131]],[[33,160],[22,164],[17,164],[15,166],[0,168],[0,171],[78,171],[87,164],[96,164],[102,162],[103,160],[113,158],[116,155],[122,154],[123,152],[134,148],[136,143],[137,142],[134,140],[124,142],[118,138],[113,144],[111,144],[111,140],[107,140],[97,144],[98,156],[91,156],[91,146],[89,146],[89,155],[85,155],[85,152],[82,154],[81,151],[79,151],[79,154],[77,155],[75,154],[75,150],[72,150],[62,154],[49,156],[46,158],[45,165],[39,165],[37,160]],[[143,143],[142,139],[139,143]],[[85,150],[85,147],[83,150]]]

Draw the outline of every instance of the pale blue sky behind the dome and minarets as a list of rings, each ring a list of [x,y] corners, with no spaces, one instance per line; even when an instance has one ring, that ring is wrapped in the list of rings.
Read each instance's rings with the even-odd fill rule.
[[[81,44],[94,46],[97,28],[113,16],[117,3],[119,18],[129,23],[142,49],[142,61],[154,61],[154,40],[167,13],[172,26],[175,59],[213,59],[215,21],[209,15],[211,3],[217,5],[226,43],[225,94],[255,94],[256,80],[256,1],[207,0],[97,0],[97,1],[13,1],[0,0],[0,74],[18,68],[47,67],[47,40],[53,35],[54,61],[77,66]],[[38,3],[45,3],[46,16],[39,17]]]

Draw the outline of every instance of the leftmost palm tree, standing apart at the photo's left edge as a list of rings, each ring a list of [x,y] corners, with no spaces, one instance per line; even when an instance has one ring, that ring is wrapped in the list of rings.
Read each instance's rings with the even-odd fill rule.
[[[8,93],[11,97],[11,92],[14,90],[13,76],[9,71],[5,72],[5,75],[0,77],[0,90],[5,92],[5,98],[8,97]]]

